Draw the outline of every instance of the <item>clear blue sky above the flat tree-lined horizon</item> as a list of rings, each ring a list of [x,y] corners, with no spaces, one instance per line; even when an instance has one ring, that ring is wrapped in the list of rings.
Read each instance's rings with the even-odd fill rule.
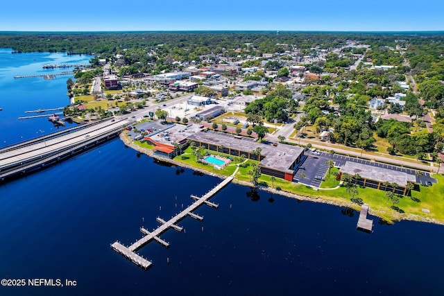
[[[444,1],[3,1],[0,31],[444,31]]]

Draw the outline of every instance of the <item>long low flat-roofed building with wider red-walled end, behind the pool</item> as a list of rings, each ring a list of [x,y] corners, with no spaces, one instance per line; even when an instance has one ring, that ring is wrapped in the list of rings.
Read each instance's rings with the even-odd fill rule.
[[[304,149],[298,146],[286,145],[278,146],[257,143],[253,139],[221,132],[196,132],[188,137],[194,141],[196,146],[203,146],[205,149],[219,151],[233,156],[244,155],[247,159],[259,160],[261,173],[280,177],[284,180],[292,181],[296,173],[295,168],[300,164]],[[257,155],[253,151],[260,148]]]

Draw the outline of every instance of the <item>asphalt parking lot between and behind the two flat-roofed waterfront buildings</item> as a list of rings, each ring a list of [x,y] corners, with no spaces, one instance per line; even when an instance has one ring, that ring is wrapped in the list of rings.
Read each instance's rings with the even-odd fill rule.
[[[334,161],[334,166],[343,166],[345,162],[357,162],[359,164],[366,164],[368,166],[377,166],[379,168],[387,168],[393,171],[401,171],[409,175],[416,176],[416,182],[418,184],[427,186],[430,183],[436,183],[436,179],[430,176],[430,173],[423,172],[422,176],[416,175],[416,170],[411,168],[402,168],[400,166],[392,166],[390,164],[382,164],[380,162],[370,162],[365,159],[359,159],[357,157],[348,157],[345,155],[330,155],[330,153],[318,151],[319,155],[314,155],[310,150],[305,151],[305,158],[302,159],[302,164],[300,166],[305,167],[305,169],[298,169],[293,177],[293,180],[298,180],[303,184],[318,187],[321,184],[320,180],[316,180],[316,176],[325,176],[327,173],[328,166],[327,160],[332,159]],[[300,174],[305,174],[304,178],[300,177]]]

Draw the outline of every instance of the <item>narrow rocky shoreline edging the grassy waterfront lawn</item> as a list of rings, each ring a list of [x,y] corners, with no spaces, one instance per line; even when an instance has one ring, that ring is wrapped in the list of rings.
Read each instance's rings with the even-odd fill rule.
[[[153,150],[148,149],[148,148],[142,148],[140,146],[137,146],[132,140],[128,139],[128,137],[126,137],[126,132],[121,132],[119,134],[119,138],[121,139],[121,141],[123,141],[123,143],[130,147],[133,148],[133,150],[136,150],[139,153],[144,153],[145,155],[148,155],[149,157],[152,157],[153,159],[157,159],[157,160],[162,160],[164,162],[169,162],[171,164],[175,164],[176,166],[182,166],[184,168],[189,168],[193,171],[198,171],[200,173],[205,173],[205,175],[211,175],[213,177],[219,177],[221,179],[225,179],[225,175],[220,175],[220,174],[216,174],[216,173],[212,173],[209,171],[205,171],[201,168],[196,168],[194,166],[190,166],[189,164],[184,164],[182,162],[177,162],[173,159],[167,159],[167,158],[162,158],[162,157],[156,157],[153,154]],[[241,186],[248,186],[251,187],[253,186],[253,184],[251,184],[250,182],[246,182],[246,181],[241,181],[241,180],[237,180],[236,177],[234,177],[234,179],[232,180],[232,183],[235,184],[239,184]],[[318,203],[323,203],[323,204],[330,204],[330,205],[334,205],[336,207],[348,207],[348,208],[352,208],[355,209],[356,211],[359,212],[360,210],[360,206],[358,204],[354,204],[353,202],[341,202],[339,200],[326,200],[322,197],[316,197],[316,198],[311,198],[309,196],[305,196],[305,195],[299,195],[296,193],[291,193],[291,192],[287,192],[287,191],[278,191],[277,189],[274,188],[269,188],[269,187],[259,187],[259,190],[262,191],[266,191],[269,193],[274,193],[274,194],[278,194],[278,195],[283,195],[287,198],[294,198],[296,200],[302,200],[302,201],[308,201],[308,202],[318,202]],[[378,211],[374,211],[371,207],[368,211],[368,214],[375,216],[379,219],[382,219],[380,216],[378,216],[379,212]],[[388,223],[393,224],[395,221],[401,221],[401,220],[408,220],[408,221],[415,221],[415,222],[423,222],[423,223],[432,223],[432,224],[436,224],[436,225],[444,225],[444,222],[441,222],[439,220],[433,219],[433,218],[423,218],[420,216],[416,216],[413,214],[395,214],[393,215],[393,218],[395,218],[392,221],[388,221]]]

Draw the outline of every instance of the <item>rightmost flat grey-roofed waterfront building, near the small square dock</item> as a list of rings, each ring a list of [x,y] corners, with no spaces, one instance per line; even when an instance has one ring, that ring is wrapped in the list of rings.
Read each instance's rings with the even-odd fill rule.
[[[369,166],[368,164],[359,164],[357,162],[345,162],[339,173],[348,173],[349,175],[360,176],[357,184],[380,190],[391,190],[394,193],[406,195],[407,183],[416,183],[416,176],[401,171],[380,168],[379,166]],[[391,186],[385,188],[384,182],[396,183],[395,189]]]

